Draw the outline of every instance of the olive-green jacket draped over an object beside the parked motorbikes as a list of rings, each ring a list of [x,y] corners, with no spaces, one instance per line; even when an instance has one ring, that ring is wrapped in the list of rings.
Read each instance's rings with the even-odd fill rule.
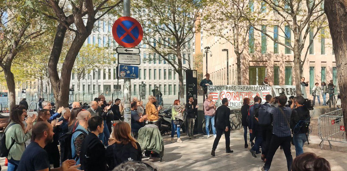
[[[151,150],[164,156],[164,140],[161,133],[154,125],[146,125],[138,130],[137,142],[141,146],[141,150]]]

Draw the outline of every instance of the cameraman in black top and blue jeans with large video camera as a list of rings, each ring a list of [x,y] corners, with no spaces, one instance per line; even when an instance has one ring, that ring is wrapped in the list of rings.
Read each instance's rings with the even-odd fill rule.
[[[309,132],[310,111],[304,106],[305,99],[303,96],[297,96],[295,101],[296,108],[293,109],[290,117],[290,128],[293,133],[293,142],[296,156],[304,153],[303,146],[307,141],[306,133]]]

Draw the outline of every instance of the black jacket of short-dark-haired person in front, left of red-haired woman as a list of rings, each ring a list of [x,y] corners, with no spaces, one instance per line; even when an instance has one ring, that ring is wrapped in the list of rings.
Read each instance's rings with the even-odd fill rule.
[[[81,170],[84,171],[106,171],[106,149],[98,136],[89,133],[84,138],[81,147],[80,162]]]

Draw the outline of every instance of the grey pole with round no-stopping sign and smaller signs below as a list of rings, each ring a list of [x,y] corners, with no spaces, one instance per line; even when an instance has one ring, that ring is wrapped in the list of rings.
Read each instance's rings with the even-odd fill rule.
[[[138,79],[138,66],[141,64],[139,48],[137,46],[143,37],[142,26],[136,19],[130,17],[130,0],[124,0],[124,17],[118,18],[112,26],[112,35],[122,46],[114,49],[118,54],[117,76],[124,78],[124,121],[131,125],[130,95],[131,79]]]

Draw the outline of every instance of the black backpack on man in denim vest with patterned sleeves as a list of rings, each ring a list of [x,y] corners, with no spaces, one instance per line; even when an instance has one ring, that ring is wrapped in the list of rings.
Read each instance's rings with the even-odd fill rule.
[[[85,137],[88,135],[86,132],[84,132],[81,129],[76,129],[75,132],[76,131],[81,131]],[[77,161],[79,158],[77,154],[75,156],[72,156],[71,139],[73,134],[74,132],[67,132],[59,138],[60,162],[64,162],[65,160],[68,160],[68,159],[75,159],[76,157],[77,157],[76,158],[76,161]]]

